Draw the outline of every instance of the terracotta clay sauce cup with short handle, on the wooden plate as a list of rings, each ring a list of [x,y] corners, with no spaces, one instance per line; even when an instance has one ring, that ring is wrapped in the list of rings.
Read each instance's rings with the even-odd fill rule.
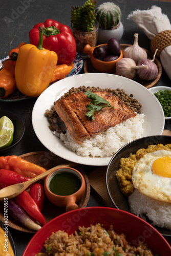
[[[54,194],[54,190],[52,189],[51,182],[52,182],[52,179],[58,174],[70,174],[73,177],[75,176],[74,180],[78,180],[80,182],[80,187],[78,188],[78,190],[75,191],[75,193],[73,193],[71,195],[56,195],[56,194]],[[65,183],[64,178],[63,178],[63,182]],[[55,181],[53,180],[53,188],[55,189],[54,184],[55,184]],[[61,184],[62,184],[62,182],[61,182]],[[63,188],[65,189],[65,185],[66,184],[62,185],[62,189]],[[71,186],[71,184],[69,184],[69,185]],[[59,207],[66,207],[66,211],[70,211],[70,210],[74,210],[74,209],[78,208],[78,205],[76,203],[81,200],[81,198],[83,197],[83,195],[85,193],[86,182],[84,180],[84,177],[82,176],[82,174],[80,172],[78,172],[78,170],[71,168],[71,167],[65,167],[65,168],[58,168],[58,169],[54,170],[52,173],[50,173],[45,179],[44,187],[45,187],[46,196],[51,203],[53,203],[54,205],[59,206]],[[58,194],[60,194],[60,193],[58,193]]]

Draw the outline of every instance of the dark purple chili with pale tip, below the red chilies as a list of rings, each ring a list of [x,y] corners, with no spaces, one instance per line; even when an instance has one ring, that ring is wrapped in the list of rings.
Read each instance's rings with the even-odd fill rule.
[[[6,198],[4,199],[6,200]],[[2,201],[3,202],[3,201]],[[19,223],[22,223],[25,227],[39,230],[41,228],[40,225],[34,223],[29,216],[25,213],[25,211],[19,207],[13,199],[8,200],[8,210],[10,215]]]

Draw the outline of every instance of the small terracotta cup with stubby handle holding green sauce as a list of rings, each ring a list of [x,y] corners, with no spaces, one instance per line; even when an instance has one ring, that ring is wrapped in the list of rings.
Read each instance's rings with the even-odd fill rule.
[[[58,175],[61,175],[60,176],[61,189],[59,188],[60,191],[56,190],[59,187],[59,185],[57,184],[57,182],[59,182]],[[68,176],[70,176],[70,178]],[[74,182],[77,182],[78,190],[74,190],[75,186],[73,187],[70,181],[67,185],[68,181],[66,181],[66,179],[71,180],[71,178],[73,179]],[[55,180],[55,179],[58,179],[58,180]],[[65,186],[66,186],[66,190],[65,190]],[[70,194],[70,191],[67,191],[69,186],[71,190],[74,191],[73,194]],[[78,205],[76,203],[81,200],[81,198],[85,193],[86,182],[82,174],[78,172],[78,170],[70,167],[65,167],[65,168],[58,168],[54,170],[52,173],[50,173],[46,177],[44,187],[45,187],[46,196],[51,203],[59,207],[66,207],[66,211],[70,211],[78,208]]]

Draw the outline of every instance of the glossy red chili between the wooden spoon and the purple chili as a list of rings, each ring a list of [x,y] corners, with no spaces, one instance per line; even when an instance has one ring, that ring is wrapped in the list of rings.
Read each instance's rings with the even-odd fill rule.
[[[36,219],[41,225],[46,224],[45,217],[41,214],[37,204],[26,190],[15,198],[15,203],[22,207],[28,215]]]

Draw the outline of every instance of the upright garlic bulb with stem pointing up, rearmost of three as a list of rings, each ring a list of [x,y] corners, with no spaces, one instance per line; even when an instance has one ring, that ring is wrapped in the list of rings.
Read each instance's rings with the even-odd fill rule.
[[[136,33],[134,34],[134,36],[135,36],[134,45],[126,47],[124,49],[123,57],[134,59],[134,61],[137,64],[141,59],[147,58],[147,53],[143,48],[141,48],[138,45],[138,34]]]

